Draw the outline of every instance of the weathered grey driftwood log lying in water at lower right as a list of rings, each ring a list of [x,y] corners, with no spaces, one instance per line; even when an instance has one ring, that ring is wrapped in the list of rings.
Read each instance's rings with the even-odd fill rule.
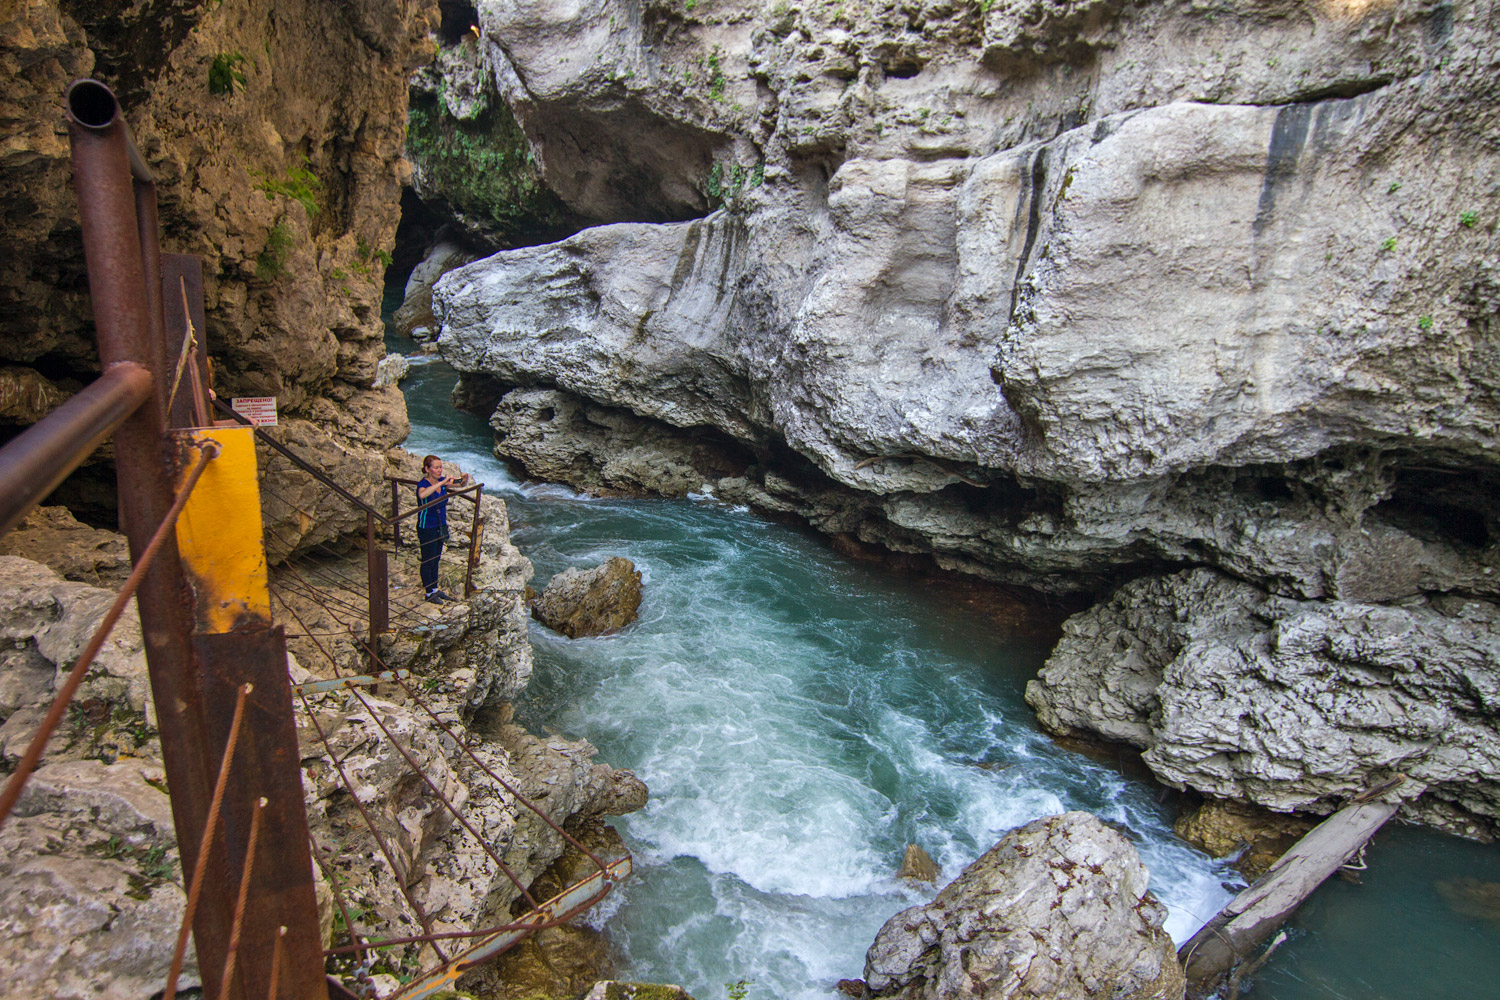
[[[1402,798],[1420,790],[1419,783],[1396,778],[1360,795],[1308,831],[1256,885],[1234,897],[1178,949],[1188,982],[1222,976],[1250,958],[1251,949],[1270,937],[1324,879],[1364,849],[1395,814]]]

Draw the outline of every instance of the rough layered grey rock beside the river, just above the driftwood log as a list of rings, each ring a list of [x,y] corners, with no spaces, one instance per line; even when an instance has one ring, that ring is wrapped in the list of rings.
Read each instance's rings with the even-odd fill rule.
[[[1500,829],[1500,607],[1270,597],[1210,570],[1136,580],[1072,616],[1026,700],[1042,724],[1146,750],[1158,778],[1329,813],[1395,774],[1407,816]]]

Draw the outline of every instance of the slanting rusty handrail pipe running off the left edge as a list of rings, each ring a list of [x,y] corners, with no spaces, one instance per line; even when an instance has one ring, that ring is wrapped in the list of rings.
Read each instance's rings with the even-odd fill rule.
[[[15,528],[152,397],[152,373],[116,364],[0,448],[0,535]]]

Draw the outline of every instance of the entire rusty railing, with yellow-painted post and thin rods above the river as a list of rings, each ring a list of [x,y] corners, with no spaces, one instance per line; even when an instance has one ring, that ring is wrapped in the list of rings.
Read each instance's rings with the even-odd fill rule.
[[[392,669],[382,660],[380,636],[393,616],[386,573],[388,553],[380,549],[378,534],[388,529],[399,549],[400,522],[441,501],[404,511],[399,489],[411,480],[394,480],[392,513],[387,516],[260,429],[252,435],[243,427],[204,426],[212,406],[207,355],[196,337],[196,330],[202,328],[200,264],[186,255],[160,253],[154,184],[130,141],[114,94],[96,81],[76,81],[68,90],[68,109],[104,373],[0,448],[0,532],[20,522],[68,472],[112,436],[120,525],[129,541],[134,568],[94,636],[57,687],[44,723],[0,792],[0,825],[15,810],[93,657],[134,597],[142,624],[156,729],[188,894],[162,996],[168,1000],[177,996],[189,934],[202,991],[210,1000],[356,996],[338,979],[326,976],[326,963],[350,952],[363,960],[358,990],[360,996],[370,997],[369,972],[376,949],[416,943],[430,946],[438,964],[396,996],[418,1000],[450,990],[478,963],[596,904],[628,874],[630,858],[604,862],[579,844],[560,825],[566,817],[555,819],[522,796],[476,753],[466,735],[454,732],[444,712],[432,708],[422,685],[412,682],[410,670]],[[180,324],[183,331],[176,357],[172,348],[178,337],[168,339],[168,322],[174,330]],[[306,574],[296,561],[285,567],[286,591],[297,591],[333,622],[326,634],[309,628],[296,601],[288,600],[290,594],[278,594],[278,588],[270,585],[262,553],[256,556],[258,562],[250,561],[254,568],[244,571],[252,577],[249,580],[238,579],[234,571],[216,570],[218,558],[230,552],[218,535],[232,534],[236,528],[256,535],[261,531],[258,516],[252,528],[242,526],[249,520],[243,516],[243,502],[225,514],[226,504],[243,499],[238,490],[256,481],[256,441],[363,514],[363,582],[348,574],[339,580],[334,574],[342,574],[342,570],[332,564],[306,561]],[[466,540],[465,597],[474,594],[474,568],[484,523],[482,490],[483,484],[476,484],[450,493],[450,498],[462,498],[474,508]],[[260,505],[258,495],[255,505]],[[226,520],[236,523],[230,526]],[[261,538],[254,541],[260,546]],[[261,552],[260,547],[254,550]],[[236,555],[240,552],[243,549],[234,550]],[[328,550],[327,555],[339,553]],[[224,559],[224,564],[232,564],[232,559]],[[321,573],[327,573],[327,579],[314,576]],[[344,583],[351,589],[340,589]],[[340,597],[352,594],[358,598],[362,586],[363,601]],[[232,600],[222,600],[225,595]],[[276,600],[303,627],[300,636],[326,655],[324,672],[332,678],[291,687],[286,631],[272,624]],[[225,607],[237,610],[226,615]],[[398,612],[396,618],[400,618],[412,609]],[[368,657],[369,675],[340,669],[338,657],[324,642],[330,636],[351,639]],[[462,754],[476,775],[484,775],[494,789],[510,796],[518,813],[536,814],[562,843],[588,858],[596,871],[554,900],[537,901],[495,844],[476,829],[474,822],[438,781],[423,772],[412,751],[396,738],[382,712],[363,691],[374,684],[399,687],[405,699],[444,735],[453,747],[450,753]],[[328,733],[314,711],[315,699],[334,694],[364,709],[384,741],[477,843],[496,871],[508,879],[528,906],[522,916],[478,930],[435,930],[430,915],[402,874],[402,865],[381,837],[378,823],[362,802],[358,789],[350,783],[344,756],[328,742]],[[370,940],[356,925],[334,870],[338,856],[332,849],[314,844],[308,828],[294,697],[390,864],[400,897],[423,934]],[[322,868],[332,886],[350,945],[321,948],[314,864]],[[462,954],[448,955],[444,943],[454,940],[476,943]]]

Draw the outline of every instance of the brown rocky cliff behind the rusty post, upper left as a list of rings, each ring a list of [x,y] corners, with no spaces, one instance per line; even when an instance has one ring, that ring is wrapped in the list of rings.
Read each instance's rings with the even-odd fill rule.
[[[410,172],[406,78],[430,58],[434,12],[434,0],[6,3],[0,357],[58,394],[96,370],[62,103],[69,79],[93,73],[118,91],[156,172],[164,249],[204,259],[219,394],[276,396],[290,442],[374,492],[406,432],[399,391],[370,382]],[[285,480],[274,463],[267,475]],[[84,486],[66,499],[108,519],[112,483]],[[294,529],[308,541],[346,526],[308,504]]]

